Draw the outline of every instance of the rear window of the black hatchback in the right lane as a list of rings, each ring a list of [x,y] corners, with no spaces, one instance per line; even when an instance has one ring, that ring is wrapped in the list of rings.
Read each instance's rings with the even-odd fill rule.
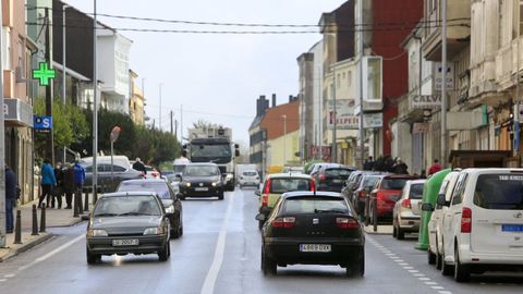
[[[285,213],[348,213],[349,207],[341,198],[335,197],[292,197],[283,203],[282,212]]]

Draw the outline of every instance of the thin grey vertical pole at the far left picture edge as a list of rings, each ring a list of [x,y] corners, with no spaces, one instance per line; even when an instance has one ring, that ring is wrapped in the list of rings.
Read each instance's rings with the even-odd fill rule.
[[[1,1],[0,1],[1,3]],[[2,9],[0,9],[0,26],[3,26]],[[3,34],[0,34],[0,49],[3,50]],[[3,58],[0,58],[0,73],[3,73]],[[5,126],[3,124],[3,75],[0,76],[0,248],[5,247]]]

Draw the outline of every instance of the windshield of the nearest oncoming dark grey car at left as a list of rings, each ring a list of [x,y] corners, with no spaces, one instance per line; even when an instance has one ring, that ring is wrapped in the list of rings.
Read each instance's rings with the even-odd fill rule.
[[[160,216],[158,201],[150,195],[101,197],[94,217]]]

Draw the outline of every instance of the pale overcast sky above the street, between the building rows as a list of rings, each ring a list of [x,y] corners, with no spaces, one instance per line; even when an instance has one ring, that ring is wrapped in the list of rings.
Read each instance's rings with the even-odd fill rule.
[[[86,13],[93,1],[64,1]],[[98,13],[177,21],[317,24],[344,0],[106,0]],[[114,28],[162,28],[194,30],[273,30],[238,26],[161,24],[99,17]],[[295,30],[304,28],[284,28]],[[318,30],[305,28],[305,30]],[[120,32],[133,40],[130,65],[145,78],[146,114],[160,115],[159,84],[162,83],[161,124],[169,130],[169,112],[180,121],[183,105],[184,134],[193,122],[204,120],[232,127],[233,139],[248,145],[248,125],[259,95],[278,96],[278,105],[297,93],[296,58],[321,38],[317,34],[224,35]]]

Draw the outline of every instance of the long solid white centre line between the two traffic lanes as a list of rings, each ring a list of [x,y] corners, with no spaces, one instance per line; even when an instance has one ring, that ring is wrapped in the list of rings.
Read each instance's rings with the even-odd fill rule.
[[[202,286],[202,294],[211,294],[215,292],[216,279],[218,279],[218,273],[220,272],[221,264],[223,262],[223,255],[226,252],[226,240],[227,240],[227,226],[229,225],[229,219],[231,218],[232,205],[235,193],[232,193],[229,196],[229,204],[227,206],[226,217],[221,223],[220,234],[218,235],[218,242],[216,243],[215,258],[210,265],[209,271],[205,277],[204,285]]]

